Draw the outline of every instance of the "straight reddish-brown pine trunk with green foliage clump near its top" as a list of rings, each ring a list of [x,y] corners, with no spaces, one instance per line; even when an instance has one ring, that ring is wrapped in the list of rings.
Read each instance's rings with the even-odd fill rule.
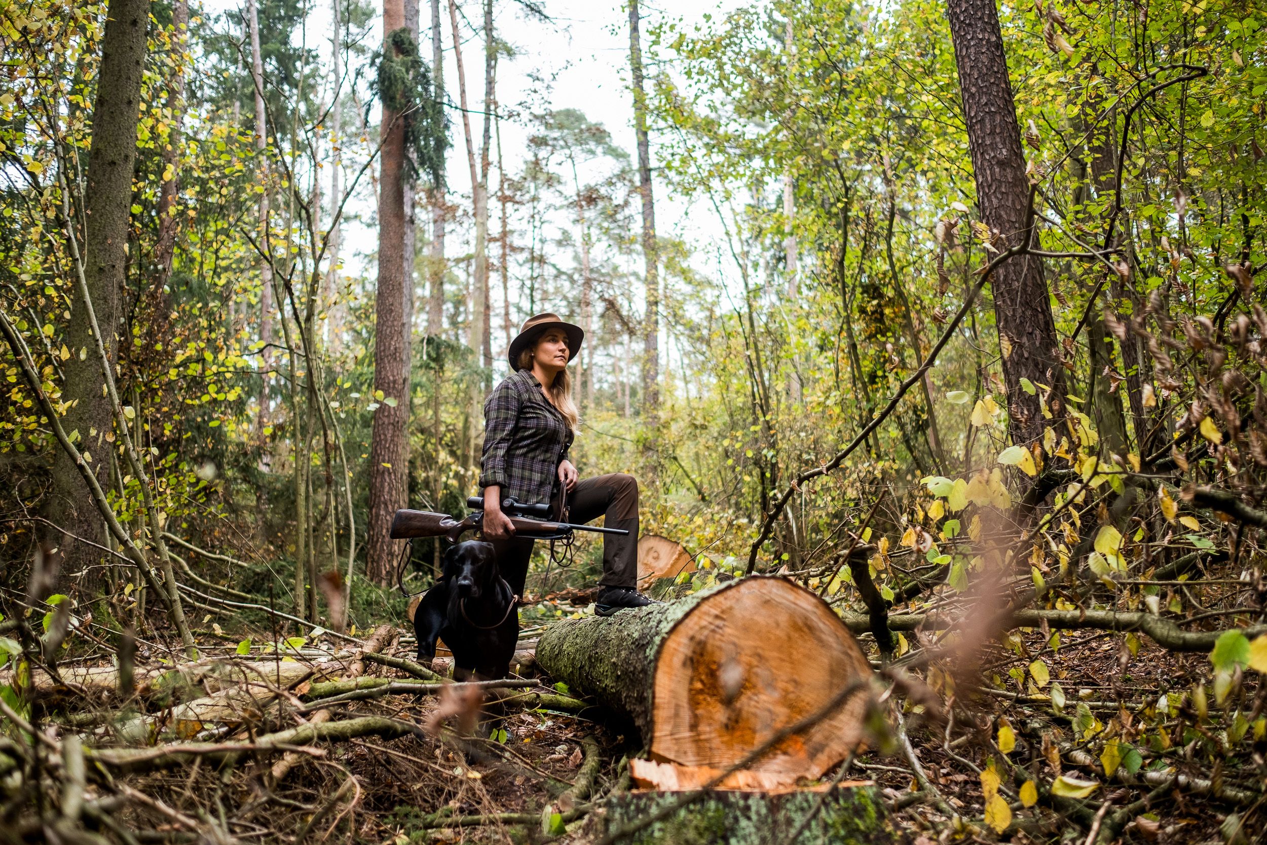
[[[383,3],[383,49],[404,27],[404,1]],[[404,369],[404,122],[384,104],[379,152],[379,277],[375,294],[374,389],[383,393],[370,440],[370,518],[366,575],[386,584],[395,559],[388,538],[392,517],[404,507],[408,398]],[[392,399],[392,403],[385,402]]]

